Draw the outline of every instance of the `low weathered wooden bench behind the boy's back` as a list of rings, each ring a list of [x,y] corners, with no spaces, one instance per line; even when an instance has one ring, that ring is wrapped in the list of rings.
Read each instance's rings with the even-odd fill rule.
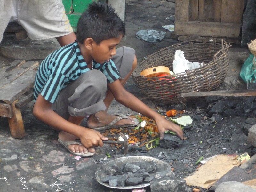
[[[38,62],[25,60],[0,66],[0,116],[8,118],[13,138],[25,136],[20,108],[33,100],[33,93],[24,94],[34,86],[38,66]]]

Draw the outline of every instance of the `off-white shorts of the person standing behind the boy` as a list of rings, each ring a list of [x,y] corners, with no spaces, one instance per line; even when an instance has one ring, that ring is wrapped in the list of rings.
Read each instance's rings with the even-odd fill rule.
[[[32,40],[73,32],[62,0],[0,0],[0,42],[11,21],[17,21]]]

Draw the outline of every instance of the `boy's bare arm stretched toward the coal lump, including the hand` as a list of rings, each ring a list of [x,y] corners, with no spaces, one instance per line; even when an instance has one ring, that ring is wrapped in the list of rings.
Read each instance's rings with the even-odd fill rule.
[[[183,131],[177,124],[174,124],[171,121],[163,118],[147,105],[145,105],[142,101],[140,101],[137,97],[127,92],[119,80],[116,80],[113,83],[109,83],[108,87],[119,103],[151,119],[154,119],[160,134],[160,139],[164,138],[164,131],[171,130],[176,132],[180,139],[183,140]]]

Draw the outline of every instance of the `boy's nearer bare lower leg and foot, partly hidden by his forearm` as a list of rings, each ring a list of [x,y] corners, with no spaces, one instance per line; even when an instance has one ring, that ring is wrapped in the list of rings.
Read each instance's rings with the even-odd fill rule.
[[[80,125],[82,120],[84,119],[84,117],[73,117],[73,116],[69,116],[68,121],[77,125]],[[60,131],[59,132],[59,139],[62,141],[73,141],[76,139],[79,139],[78,137],[76,137],[75,135],[72,135],[70,133],[64,132],[64,131]],[[73,153],[87,153],[87,151],[89,152],[95,152],[94,148],[85,148],[83,145],[68,145],[69,150],[71,150]]]

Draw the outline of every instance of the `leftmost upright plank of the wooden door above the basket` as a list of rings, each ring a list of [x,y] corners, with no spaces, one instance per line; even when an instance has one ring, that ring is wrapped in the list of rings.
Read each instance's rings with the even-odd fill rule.
[[[189,21],[189,0],[176,0],[175,2],[175,22]]]

